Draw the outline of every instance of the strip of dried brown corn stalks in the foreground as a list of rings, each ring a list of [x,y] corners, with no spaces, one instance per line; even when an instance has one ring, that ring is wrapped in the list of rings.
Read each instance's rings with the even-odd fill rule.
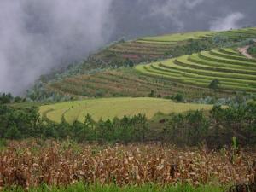
[[[145,143],[89,145],[70,140],[63,143],[13,141],[6,143],[6,147],[0,154],[1,187],[15,185],[26,189],[42,184],[67,186],[83,182],[113,184],[129,189],[130,185],[154,183],[156,189],[160,184],[167,186],[166,191],[169,191],[168,185],[183,183],[177,189],[213,191],[221,189],[218,186],[253,183],[256,172],[254,150],[241,148],[215,152]],[[215,187],[193,189],[187,184]],[[175,187],[170,189],[177,191]]]

